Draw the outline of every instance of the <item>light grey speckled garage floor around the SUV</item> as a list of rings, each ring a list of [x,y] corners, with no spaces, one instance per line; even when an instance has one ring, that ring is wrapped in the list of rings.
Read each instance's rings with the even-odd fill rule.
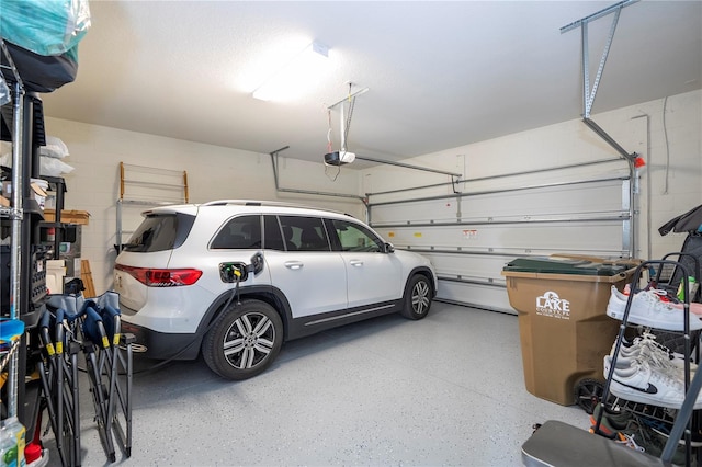
[[[435,303],[288,342],[245,381],[202,361],[135,360],[125,466],[521,465],[534,423],[587,429],[524,389],[516,316]],[[84,377],[84,375],[82,375]],[[107,465],[81,380],[82,465]],[[60,460],[47,441],[49,466]]]

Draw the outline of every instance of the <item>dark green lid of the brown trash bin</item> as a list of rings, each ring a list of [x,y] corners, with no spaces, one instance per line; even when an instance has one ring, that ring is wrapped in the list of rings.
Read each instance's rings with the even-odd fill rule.
[[[608,262],[592,262],[571,258],[533,257],[517,258],[507,263],[502,271],[547,274],[578,274],[612,276],[623,273],[627,265]]]

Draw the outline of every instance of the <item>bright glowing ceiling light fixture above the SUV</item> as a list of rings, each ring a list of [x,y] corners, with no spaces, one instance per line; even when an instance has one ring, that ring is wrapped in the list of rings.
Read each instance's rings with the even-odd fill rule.
[[[285,101],[314,88],[329,57],[329,47],[313,42],[253,90],[253,99]]]

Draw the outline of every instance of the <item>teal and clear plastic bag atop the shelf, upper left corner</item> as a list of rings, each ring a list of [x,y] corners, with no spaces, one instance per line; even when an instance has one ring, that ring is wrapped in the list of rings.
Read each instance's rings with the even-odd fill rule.
[[[38,55],[73,49],[89,29],[88,0],[2,1],[2,37]]]

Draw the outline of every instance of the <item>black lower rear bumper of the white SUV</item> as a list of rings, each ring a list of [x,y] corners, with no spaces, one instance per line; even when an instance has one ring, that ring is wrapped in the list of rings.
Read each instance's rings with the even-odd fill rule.
[[[158,332],[124,320],[122,332],[134,334],[135,353],[156,360],[195,360],[202,343],[199,334]]]

